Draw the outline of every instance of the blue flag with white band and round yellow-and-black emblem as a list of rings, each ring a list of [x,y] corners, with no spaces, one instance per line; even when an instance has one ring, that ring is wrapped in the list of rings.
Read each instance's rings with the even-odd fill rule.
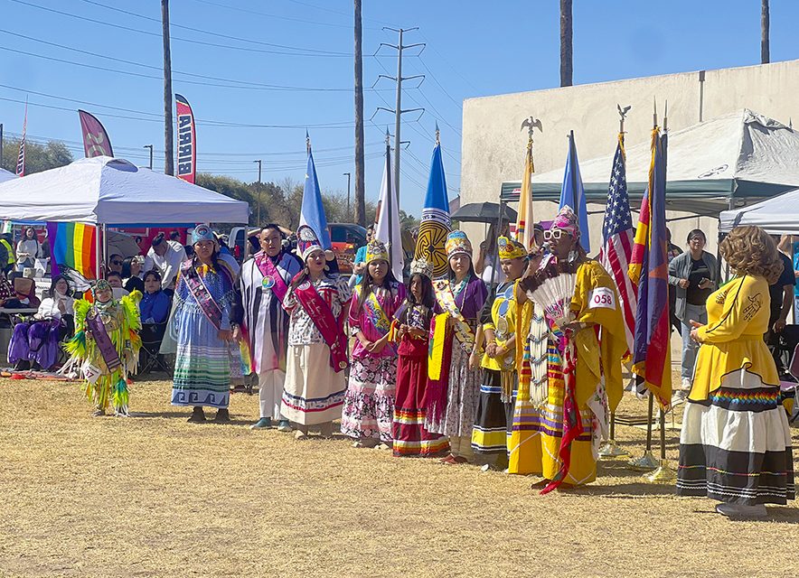
[[[441,159],[441,142],[436,140],[433,159],[430,162],[428,193],[422,208],[421,224],[418,228],[414,258],[425,257],[433,265],[433,276],[447,274],[447,243],[449,226],[449,199],[447,180],[444,177],[444,163]]]

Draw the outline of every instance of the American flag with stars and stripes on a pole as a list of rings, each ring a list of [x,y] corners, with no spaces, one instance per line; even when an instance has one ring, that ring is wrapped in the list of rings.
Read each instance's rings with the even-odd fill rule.
[[[613,171],[610,173],[610,186],[607,190],[605,222],[602,226],[602,250],[599,261],[616,281],[619,302],[625,318],[627,349],[633,350],[635,332],[635,307],[638,287],[627,273],[633,253],[633,216],[630,213],[630,199],[627,196],[627,177],[625,172],[624,135],[619,135]]]

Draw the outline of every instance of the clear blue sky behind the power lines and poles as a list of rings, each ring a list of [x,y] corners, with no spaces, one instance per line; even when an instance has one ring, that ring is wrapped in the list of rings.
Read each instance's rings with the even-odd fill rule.
[[[308,126],[320,185],[346,191],[343,172],[354,173],[352,4],[172,0],[174,91],[188,98],[197,118],[215,123],[198,126],[200,171],[251,182],[257,178],[252,161],[262,159],[265,181],[301,181]],[[577,84],[759,62],[757,0],[574,4]],[[558,86],[559,2],[363,0],[363,5],[367,119],[377,107],[394,107],[390,80],[370,89],[379,74],[396,73],[395,53],[378,51],[381,42],[396,43],[396,33],[381,28],[418,26],[405,42],[428,44],[420,56],[418,49],[409,51],[403,64],[403,76],[427,75],[419,88],[415,81],[407,83],[402,103],[403,108],[426,108],[421,117],[404,117],[401,133],[410,144],[403,152],[400,204],[418,215],[436,122],[453,197],[460,185],[463,99]],[[143,146],[155,144],[155,168],[163,168],[158,0],[0,0],[0,11],[0,122],[6,133],[22,130],[24,104],[19,101],[27,96],[31,103],[48,106],[31,105],[28,135],[67,141],[73,154],[82,156],[75,109],[83,107],[106,126],[118,156],[146,164]],[[799,56],[797,18],[799,3],[772,0],[772,61]],[[375,51],[378,57],[371,56]],[[290,89],[271,89],[276,85]],[[380,188],[386,126],[393,132],[393,117],[385,112],[366,123],[366,194],[371,199]]]

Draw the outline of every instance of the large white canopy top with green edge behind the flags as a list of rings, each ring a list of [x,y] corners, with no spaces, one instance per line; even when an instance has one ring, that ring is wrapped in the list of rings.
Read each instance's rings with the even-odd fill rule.
[[[651,143],[627,146],[625,152],[627,189],[640,198],[648,182]],[[588,200],[606,202],[612,166],[613,154],[580,163]],[[704,203],[719,210],[733,198],[771,197],[799,186],[799,133],[747,108],[669,131],[667,175],[667,201],[674,209]],[[562,168],[534,174],[533,196],[557,199],[562,182]],[[503,183],[503,196],[520,185]]]

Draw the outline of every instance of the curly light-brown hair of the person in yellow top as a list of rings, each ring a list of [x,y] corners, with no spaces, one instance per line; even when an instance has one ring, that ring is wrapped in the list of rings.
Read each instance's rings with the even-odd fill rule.
[[[733,228],[721,241],[719,252],[738,275],[762,276],[774,284],[783,272],[774,239],[759,227]]]

